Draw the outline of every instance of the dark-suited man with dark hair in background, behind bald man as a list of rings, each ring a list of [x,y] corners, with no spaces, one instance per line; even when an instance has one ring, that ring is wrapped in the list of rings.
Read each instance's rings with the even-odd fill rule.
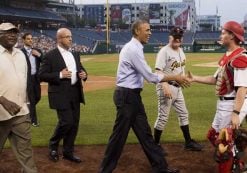
[[[33,48],[33,36],[31,33],[25,33],[22,36],[23,39],[23,48],[22,52],[26,56],[27,66],[28,66],[28,80],[29,82],[29,110],[30,110],[30,118],[31,123],[34,127],[38,127],[38,119],[36,113],[36,104],[40,101],[41,98],[41,88],[40,88],[40,80],[38,77],[40,63],[43,59],[43,54],[41,50]]]

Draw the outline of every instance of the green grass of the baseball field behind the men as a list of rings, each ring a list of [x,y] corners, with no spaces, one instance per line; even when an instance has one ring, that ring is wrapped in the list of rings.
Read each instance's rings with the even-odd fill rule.
[[[153,68],[156,54],[146,54],[148,64]],[[212,75],[215,68],[194,67],[193,64],[214,62],[221,54],[196,54],[188,53],[186,69],[194,74]],[[83,65],[90,75],[115,76],[118,55],[90,55],[82,56],[82,60],[93,58],[90,61],[83,61]],[[111,59],[110,62],[107,59]],[[81,106],[81,120],[76,144],[106,144],[111,134],[115,121],[115,107],[112,101],[113,88],[90,91],[85,93],[86,105]],[[214,86],[194,84],[184,89],[186,105],[190,113],[190,131],[194,139],[206,140],[205,135],[215,113],[216,96]],[[142,98],[147,112],[149,124],[153,124],[157,116],[157,98],[155,85],[145,84]],[[34,146],[47,146],[55,128],[57,117],[54,110],[49,109],[47,96],[42,97],[37,106],[39,128],[32,128],[32,142]],[[162,135],[162,141],[182,142],[183,136],[179,128],[177,116],[171,111],[169,122]],[[129,133],[128,143],[136,143],[137,139],[132,130]]]

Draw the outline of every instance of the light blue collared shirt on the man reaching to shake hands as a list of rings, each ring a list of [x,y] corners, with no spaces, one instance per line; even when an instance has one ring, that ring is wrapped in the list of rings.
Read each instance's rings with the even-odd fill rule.
[[[116,85],[125,88],[143,88],[144,79],[159,83],[164,76],[152,73],[143,53],[143,45],[132,38],[121,50]]]

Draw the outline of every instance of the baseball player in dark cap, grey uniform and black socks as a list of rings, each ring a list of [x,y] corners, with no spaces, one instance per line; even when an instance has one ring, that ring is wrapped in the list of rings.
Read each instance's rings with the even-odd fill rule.
[[[185,54],[180,48],[183,38],[183,30],[174,27],[169,35],[168,45],[161,48],[157,55],[155,69],[159,73],[184,74]],[[160,143],[162,131],[168,122],[171,107],[178,114],[179,125],[185,139],[185,149],[201,151],[202,145],[191,139],[189,131],[188,111],[185,106],[182,89],[175,81],[159,83],[156,85],[158,95],[158,117],[154,125],[154,139]]]

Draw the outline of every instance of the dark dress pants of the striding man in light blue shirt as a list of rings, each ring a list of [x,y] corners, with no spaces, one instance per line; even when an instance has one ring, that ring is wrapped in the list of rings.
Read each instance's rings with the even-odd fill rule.
[[[152,165],[153,172],[159,173],[168,166],[161,147],[155,144],[153,140],[140,91],[140,89],[117,88],[114,92],[117,115],[113,132],[100,166],[100,173],[111,173],[115,169],[130,128],[133,129],[137,136]]]

